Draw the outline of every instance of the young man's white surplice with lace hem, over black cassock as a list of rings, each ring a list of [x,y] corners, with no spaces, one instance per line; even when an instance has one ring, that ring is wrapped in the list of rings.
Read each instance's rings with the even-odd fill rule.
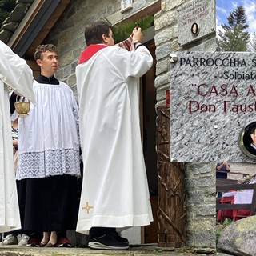
[[[78,105],[70,87],[34,81],[37,106],[18,121],[16,178],[80,176]]]

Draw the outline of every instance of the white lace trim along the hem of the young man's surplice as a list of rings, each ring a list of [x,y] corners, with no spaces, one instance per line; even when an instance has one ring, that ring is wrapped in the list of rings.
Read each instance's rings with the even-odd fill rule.
[[[73,149],[45,150],[19,154],[18,180],[70,174],[80,176],[79,151]]]

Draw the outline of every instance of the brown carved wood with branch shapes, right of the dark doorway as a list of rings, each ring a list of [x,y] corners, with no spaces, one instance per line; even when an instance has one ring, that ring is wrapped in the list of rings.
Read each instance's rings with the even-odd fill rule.
[[[179,248],[186,242],[184,164],[170,162],[170,109],[158,107],[158,246]]]

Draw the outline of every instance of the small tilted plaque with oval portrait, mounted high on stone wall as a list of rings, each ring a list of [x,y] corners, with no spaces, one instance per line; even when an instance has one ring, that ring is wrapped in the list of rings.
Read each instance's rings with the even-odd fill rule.
[[[178,8],[178,42],[181,46],[215,33],[215,1],[193,0]]]

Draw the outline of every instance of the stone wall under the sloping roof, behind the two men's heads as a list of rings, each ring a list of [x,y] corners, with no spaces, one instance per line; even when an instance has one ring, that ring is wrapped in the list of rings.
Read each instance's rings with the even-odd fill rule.
[[[134,1],[132,9],[121,13],[120,1],[116,0],[71,1],[61,21],[45,40],[47,43],[55,44],[59,50],[60,66],[57,78],[70,85],[76,95],[74,72],[80,53],[86,46],[84,27],[92,21],[104,19],[111,24],[116,24],[154,2],[157,1]]]

